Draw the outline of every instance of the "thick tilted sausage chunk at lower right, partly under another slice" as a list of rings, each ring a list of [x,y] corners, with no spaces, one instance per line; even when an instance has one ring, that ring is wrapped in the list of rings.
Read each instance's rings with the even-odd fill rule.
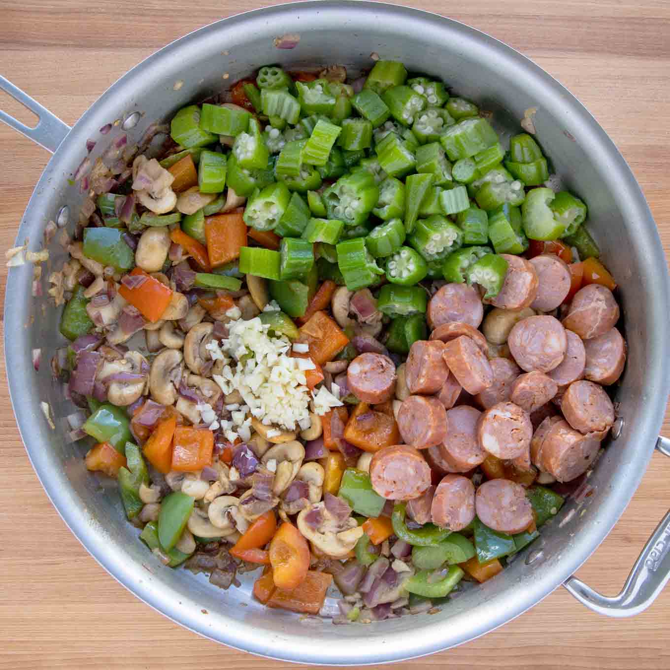
[[[535,464],[559,482],[572,481],[596,460],[604,435],[604,432],[582,435],[567,421],[558,419],[549,427]]]

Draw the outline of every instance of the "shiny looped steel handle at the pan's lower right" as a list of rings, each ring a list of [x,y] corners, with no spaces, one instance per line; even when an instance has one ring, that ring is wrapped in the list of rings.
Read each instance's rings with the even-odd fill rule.
[[[670,456],[670,440],[660,437],[656,448]],[[618,596],[603,596],[572,576],[563,586],[582,604],[598,614],[634,616],[651,605],[670,580],[670,512],[663,517],[635,561]]]

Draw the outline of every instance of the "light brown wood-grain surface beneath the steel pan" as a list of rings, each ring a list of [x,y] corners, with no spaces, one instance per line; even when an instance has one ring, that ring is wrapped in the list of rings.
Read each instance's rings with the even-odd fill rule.
[[[0,0],[0,70],[72,125],[111,83],[159,47],[257,0]],[[670,2],[667,0],[408,0],[507,42],[571,90],[638,178],[670,251]],[[0,109],[25,118],[0,92]],[[0,247],[48,153],[0,124]],[[622,253],[625,253],[622,251]],[[7,270],[0,269],[4,301]],[[0,363],[4,377],[4,358]],[[0,670],[288,667],[216,645],[151,610],[74,539],[48,501],[0,386]],[[670,435],[670,423],[664,425]],[[655,455],[609,537],[578,575],[618,592],[670,507],[670,461]],[[565,590],[472,643],[397,667],[670,667],[670,589],[631,619],[603,618]]]

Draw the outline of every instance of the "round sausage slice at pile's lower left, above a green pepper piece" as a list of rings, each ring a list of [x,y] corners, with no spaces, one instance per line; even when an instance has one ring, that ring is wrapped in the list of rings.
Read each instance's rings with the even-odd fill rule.
[[[413,500],[431,484],[430,468],[421,454],[407,444],[380,449],[370,462],[373,488],[387,500]]]

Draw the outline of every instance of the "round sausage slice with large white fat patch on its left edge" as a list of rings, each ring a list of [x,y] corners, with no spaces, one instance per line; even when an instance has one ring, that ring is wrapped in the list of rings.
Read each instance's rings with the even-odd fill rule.
[[[489,407],[479,421],[479,444],[496,458],[517,458],[527,451],[533,437],[528,412],[514,403]]]

